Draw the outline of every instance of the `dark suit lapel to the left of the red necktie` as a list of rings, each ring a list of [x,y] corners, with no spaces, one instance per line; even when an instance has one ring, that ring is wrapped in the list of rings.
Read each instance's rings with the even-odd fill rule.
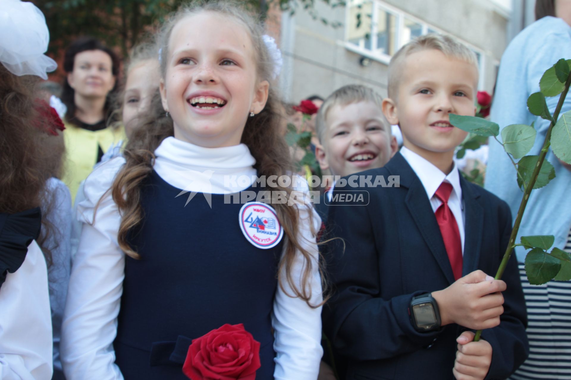
[[[454,273],[444,247],[440,228],[436,222],[436,217],[423,184],[400,153],[395,154],[385,167],[392,174],[400,175],[400,186],[408,188],[407,197],[405,198],[408,211],[411,213],[416,227],[423,236],[444,276],[452,284],[454,282]]]

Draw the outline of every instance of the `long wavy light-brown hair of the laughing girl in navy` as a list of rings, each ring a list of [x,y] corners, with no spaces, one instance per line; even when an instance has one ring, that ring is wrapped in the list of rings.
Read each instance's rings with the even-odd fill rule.
[[[164,78],[166,73],[166,62],[168,57],[168,41],[172,28],[189,15],[201,12],[214,12],[226,17],[236,19],[250,32],[256,59],[258,62],[257,72],[259,80],[271,81],[274,63],[263,42],[263,27],[258,19],[254,18],[242,6],[235,2],[195,2],[191,6],[183,7],[166,24],[164,24],[159,34],[159,47],[161,48],[161,75]],[[256,159],[255,169],[259,176],[269,177],[270,175],[291,175],[292,164],[289,156],[289,149],[280,134],[280,124],[283,116],[280,115],[280,103],[273,89],[270,88],[266,107],[262,112],[254,117],[248,117],[242,142],[248,146],[251,154]],[[160,103],[160,97],[155,96],[152,107],[148,115],[139,118],[139,125],[135,128],[134,135],[128,142],[124,157],[126,164],[119,171],[112,185],[112,197],[119,207],[122,220],[118,232],[118,243],[124,252],[132,258],[139,258],[137,252],[127,242],[127,235],[132,228],[138,226],[142,220],[142,209],[140,206],[140,186],[142,181],[151,173],[154,164],[154,154],[156,148],[167,137],[174,135],[172,119],[165,115]],[[259,149],[264,146],[264,149]],[[274,191],[285,191],[291,194],[290,187],[272,187]],[[315,266],[323,274],[320,262],[304,249],[299,235],[299,208],[285,204],[274,205],[278,213],[284,233],[286,234],[286,249],[280,260],[278,269],[278,279],[280,287],[284,292],[287,283],[293,291],[291,297],[303,299],[311,307],[319,307],[310,303],[312,297],[311,280]],[[311,217],[311,205],[308,207],[310,219],[309,224],[313,226]],[[313,231],[315,236],[317,231]],[[292,268],[298,253],[303,256],[304,265],[301,273],[301,284],[297,285],[293,279]],[[283,269],[285,268],[285,271]],[[285,276],[282,273],[285,272]],[[285,278],[282,278],[285,277]],[[325,281],[321,276],[322,289],[325,289]]]

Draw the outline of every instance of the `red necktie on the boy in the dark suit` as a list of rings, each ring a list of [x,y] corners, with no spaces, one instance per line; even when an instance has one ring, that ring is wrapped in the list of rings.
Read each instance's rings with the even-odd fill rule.
[[[454,279],[457,280],[462,277],[462,242],[460,240],[460,231],[458,230],[456,218],[454,218],[454,214],[452,214],[450,207],[448,207],[448,198],[450,198],[451,193],[452,185],[450,183],[443,182],[440,184],[435,195],[442,201],[442,205],[438,207],[435,215],[438,226],[440,227],[442,239],[444,240],[444,247],[446,247],[448,259],[452,266]]]

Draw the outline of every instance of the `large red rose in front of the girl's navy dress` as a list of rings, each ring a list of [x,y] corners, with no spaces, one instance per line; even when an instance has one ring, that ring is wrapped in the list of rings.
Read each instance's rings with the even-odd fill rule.
[[[226,324],[192,340],[182,371],[192,380],[254,380],[260,366],[260,343],[243,324]]]

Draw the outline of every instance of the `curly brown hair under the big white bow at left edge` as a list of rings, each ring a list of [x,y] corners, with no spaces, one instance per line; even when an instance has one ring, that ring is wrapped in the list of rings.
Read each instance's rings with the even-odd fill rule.
[[[50,126],[38,113],[37,83],[38,77],[13,75],[0,64],[0,213],[42,206],[38,243],[50,263],[50,249],[42,246],[53,228],[45,218],[53,208],[46,182],[59,174],[64,149],[62,139],[45,132]]]

